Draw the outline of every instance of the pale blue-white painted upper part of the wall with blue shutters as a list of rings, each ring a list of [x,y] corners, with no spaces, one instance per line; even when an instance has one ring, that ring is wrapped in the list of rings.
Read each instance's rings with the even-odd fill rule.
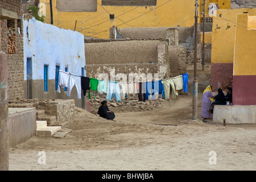
[[[23,32],[24,80],[27,80],[27,57],[32,58],[32,80],[43,80],[44,64],[48,65],[49,80],[55,79],[56,64],[63,71],[68,65],[68,72],[81,75],[81,68],[85,67],[84,35],[35,18],[23,20]]]

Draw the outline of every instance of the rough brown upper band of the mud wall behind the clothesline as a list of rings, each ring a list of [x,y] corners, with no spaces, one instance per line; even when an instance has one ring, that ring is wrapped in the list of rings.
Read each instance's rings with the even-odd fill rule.
[[[159,40],[85,43],[86,64],[157,63]]]

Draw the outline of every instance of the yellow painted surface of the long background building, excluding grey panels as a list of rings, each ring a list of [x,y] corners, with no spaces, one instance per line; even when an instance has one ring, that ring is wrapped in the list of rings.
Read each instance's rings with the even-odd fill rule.
[[[118,16],[114,20],[110,20],[109,13],[100,6],[101,0],[97,1],[100,5],[97,5],[96,12],[58,12],[56,0],[52,0],[53,24],[58,27],[74,30],[77,20],[76,31],[81,32],[85,36],[96,38],[109,38],[109,28],[112,26],[117,26],[118,28],[193,26],[195,22],[195,11],[193,11],[195,10],[195,0],[168,1],[157,0],[156,6],[147,8],[145,6],[103,6],[110,14],[114,14],[115,17]],[[40,2],[47,3],[45,23],[51,23],[49,0],[40,0]],[[164,3],[166,4],[163,5]],[[138,16],[140,17],[136,18]],[[82,23],[83,20],[85,23]],[[123,22],[127,22],[127,24]]]

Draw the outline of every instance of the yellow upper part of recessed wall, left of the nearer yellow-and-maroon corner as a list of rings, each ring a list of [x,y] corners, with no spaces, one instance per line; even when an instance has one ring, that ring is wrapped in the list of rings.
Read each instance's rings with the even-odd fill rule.
[[[255,16],[256,8],[217,10],[212,27],[212,63],[233,63],[236,15],[243,12]]]

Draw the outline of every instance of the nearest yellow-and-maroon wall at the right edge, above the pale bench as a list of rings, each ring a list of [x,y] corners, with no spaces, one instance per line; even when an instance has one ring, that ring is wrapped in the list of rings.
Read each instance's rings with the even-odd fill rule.
[[[234,40],[233,104],[256,105],[256,16],[237,14]]]

